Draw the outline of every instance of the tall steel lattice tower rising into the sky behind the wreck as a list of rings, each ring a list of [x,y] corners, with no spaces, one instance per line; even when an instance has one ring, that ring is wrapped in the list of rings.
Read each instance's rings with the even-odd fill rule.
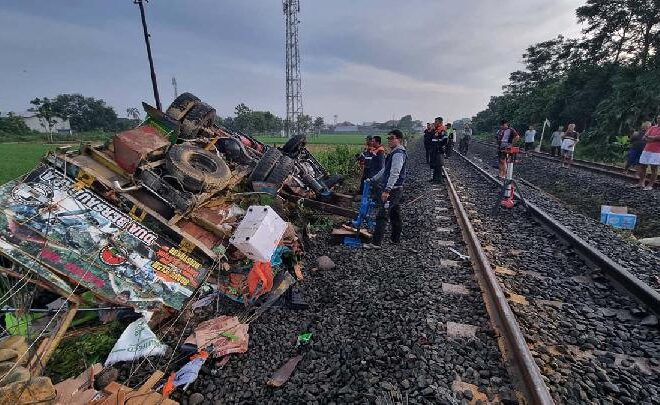
[[[300,79],[300,52],[298,51],[298,13],[300,0],[282,0],[286,21],[286,121],[287,137],[300,134],[299,118],[302,109],[302,82]]]

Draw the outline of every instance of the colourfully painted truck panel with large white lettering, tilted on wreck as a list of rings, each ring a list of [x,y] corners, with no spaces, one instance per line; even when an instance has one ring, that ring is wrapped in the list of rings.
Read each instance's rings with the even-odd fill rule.
[[[71,174],[42,165],[0,187],[0,251],[64,291],[80,283],[138,309],[181,309],[210,259],[156,233],[144,215],[120,210]]]

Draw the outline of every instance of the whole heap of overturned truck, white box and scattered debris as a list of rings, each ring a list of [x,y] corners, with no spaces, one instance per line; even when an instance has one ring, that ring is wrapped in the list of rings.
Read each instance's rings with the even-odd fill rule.
[[[147,118],[137,128],[102,145],[59,148],[0,187],[0,277],[17,279],[19,290],[36,286],[39,302],[60,297],[44,309],[58,326],[31,336],[44,346],[31,361],[47,363],[84,310],[104,323],[129,318],[106,369],[183,351],[192,357],[164,383],[172,391],[194,380],[207,357],[247,351],[249,323],[269,307],[304,307],[290,288],[304,277],[291,213],[300,206],[357,213],[349,196],[332,190],[341,177],[314,158],[304,136],[269,147],[216,125],[215,110],[190,93],[165,113],[143,106]],[[169,351],[152,332],[182,312],[216,303],[217,315],[231,302],[243,309],[199,323]],[[81,378],[92,380],[67,381],[78,390]],[[151,390],[154,378],[137,391]],[[127,400],[124,388],[99,389],[95,398]]]

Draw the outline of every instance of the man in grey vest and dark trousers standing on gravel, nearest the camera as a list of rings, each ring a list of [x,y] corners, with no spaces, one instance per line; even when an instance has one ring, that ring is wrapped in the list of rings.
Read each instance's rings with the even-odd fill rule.
[[[401,242],[403,222],[401,220],[401,197],[403,184],[406,180],[406,167],[408,154],[402,144],[403,133],[394,129],[387,134],[387,143],[390,154],[385,158],[385,166],[368,181],[377,184],[382,193],[380,195],[378,214],[376,214],[376,230],[373,243],[364,245],[366,249],[380,249],[385,236],[385,227],[388,217],[392,224],[392,242]]]

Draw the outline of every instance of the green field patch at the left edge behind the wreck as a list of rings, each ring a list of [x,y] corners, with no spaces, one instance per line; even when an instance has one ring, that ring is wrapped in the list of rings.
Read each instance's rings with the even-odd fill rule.
[[[29,172],[55,147],[40,143],[0,143],[0,184]]]

